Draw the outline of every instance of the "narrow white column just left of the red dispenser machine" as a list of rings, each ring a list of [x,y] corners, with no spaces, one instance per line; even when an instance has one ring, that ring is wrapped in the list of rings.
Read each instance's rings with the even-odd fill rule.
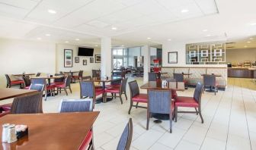
[[[144,83],[149,80],[149,72],[150,72],[150,47],[149,45],[142,46],[142,56],[144,57]]]

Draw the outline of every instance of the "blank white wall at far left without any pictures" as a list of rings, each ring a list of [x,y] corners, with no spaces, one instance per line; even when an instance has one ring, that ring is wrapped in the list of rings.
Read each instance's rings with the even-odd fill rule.
[[[0,39],[0,87],[5,73],[55,73],[56,44],[18,39]]]

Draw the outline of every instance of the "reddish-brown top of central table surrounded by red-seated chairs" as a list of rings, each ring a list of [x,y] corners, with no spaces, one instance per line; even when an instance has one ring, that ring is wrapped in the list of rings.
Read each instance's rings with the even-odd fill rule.
[[[146,84],[140,86],[141,89],[174,89],[176,91],[184,91],[184,82],[169,82],[167,86],[163,87],[162,82],[149,81]]]

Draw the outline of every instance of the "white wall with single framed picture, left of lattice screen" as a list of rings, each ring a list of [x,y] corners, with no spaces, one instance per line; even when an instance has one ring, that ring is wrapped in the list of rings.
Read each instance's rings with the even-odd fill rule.
[[[165,42],[162,45],[162,67],[226,67],[226,64],[186,64],[186,44]],[[178,52],[178,64],[168,64],[168,52]]]

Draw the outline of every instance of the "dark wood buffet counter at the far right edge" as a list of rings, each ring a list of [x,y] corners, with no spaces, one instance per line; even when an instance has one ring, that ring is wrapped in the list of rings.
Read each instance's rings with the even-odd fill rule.
[[[229,67],[228,77],[254,78],[256,67]]]

